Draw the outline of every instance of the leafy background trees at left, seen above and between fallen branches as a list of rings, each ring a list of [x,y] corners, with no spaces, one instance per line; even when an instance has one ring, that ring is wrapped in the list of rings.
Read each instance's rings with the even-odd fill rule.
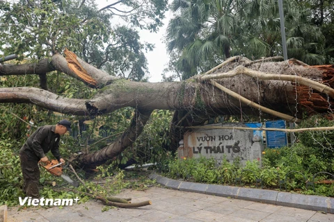
[[[112,76],[147,80],[148,62],[144,52],[154,46],[140,40],[138,29],[158,31],[167,10],[166,4],[164,0],[121,0],[97,8],[92,0],[0,1],[0,42],[4,43],[0,45],[0,52],[4,56],[16,53],[19,56],[16,64],[24,64],[50,58],[54,53],[70,47],[85,62]],[[95,93],[81,81],[67,78],[62,71],[51,71],[47,76],[46,73],[47,69],[43,69],[38,71],[38,76],[1,77],[0,85],[42,87],[75,99],[89,98]],[[17,139],[19,144],[35,130],[29,126],[29,121],[35,126],[42,126],[63,118],[63,114],[54,115],[32,104],[4,104],[0,110],[1,138]],[[89,115],[75,118],[74,122],[78,121],[80,125],[78,130],[82,141],[71,142],[74,150],[95,139],[93,131],[107,121],[106,118],[94,118]],[[95,124],[84,123],[90,119]],[[130,121],[127,115],[123,119],[127,119],[128,123]],[[82,131],[85,124],[90,129]],[[127,126],[122,122],[113,127],[122,130]]]

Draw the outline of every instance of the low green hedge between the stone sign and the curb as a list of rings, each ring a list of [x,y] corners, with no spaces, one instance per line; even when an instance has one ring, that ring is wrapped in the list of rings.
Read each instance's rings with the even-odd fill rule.
[[[184,179],[194,182],[218,183],[225,185],[241,185],[264,187],[268,189],[287,189],[303,194],[333,196],[333,185],[317,184],[317,181],[331,179],[328,173],[333,173],[333,160],[319,160],[315,155],[308,155],[308,147],[296,144],[292,147],[278,149],[267,148],[263,152],[262,167],[257,160],[228,162],[224,157],[220,164],[214,159],[200,157],[169,159],[169,171],[166,175],[174,179]],[[326,171],[328,173],[319,173]],[[315,176],[315,174],[317,176]],[[306,187],[306,181],[313,181],[315,191]],[[260,182],[261,181],[261,182]]]

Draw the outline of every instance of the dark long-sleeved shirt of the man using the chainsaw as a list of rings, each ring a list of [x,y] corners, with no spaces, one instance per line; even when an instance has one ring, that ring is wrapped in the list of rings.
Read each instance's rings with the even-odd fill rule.
[[[40,158],[45,157],[45,154],[51,150],[51,153],[59,161],[61,153],[59,153],[59,140],[61,136],[54,133],[56,126],[41,126],[26,140],[20,152],[28,151]]]

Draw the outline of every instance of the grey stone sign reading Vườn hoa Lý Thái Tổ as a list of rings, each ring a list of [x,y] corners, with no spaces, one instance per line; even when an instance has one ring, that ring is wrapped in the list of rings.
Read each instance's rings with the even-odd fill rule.
[[[247,127],[244,123],[207,126],[228,126],[231,129],[187,131],[184,134],[184,144],[179,147],[179,153],[185,157],[214,157],[218,163],[223,160],[224,156],[230,162],[236,157],[239,157],[243,163],[246,160],[261,161],[263,146],[259,138],[253,139],[253,130],[233,129],[233,127]]]

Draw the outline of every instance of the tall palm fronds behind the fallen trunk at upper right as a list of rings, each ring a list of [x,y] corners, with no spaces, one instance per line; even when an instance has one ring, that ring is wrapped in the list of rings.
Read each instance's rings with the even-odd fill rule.
[[[230,56],[255,60],[283,55],[277,1],[173,1],[171,9],[165,80],[170,80],[168,71],[184,80]],[[328,60],[331,46],[326,47],[320,28],[312,24],[310,10],[299,1],[285,1],[284,11],[289,58],[310,65]]]

